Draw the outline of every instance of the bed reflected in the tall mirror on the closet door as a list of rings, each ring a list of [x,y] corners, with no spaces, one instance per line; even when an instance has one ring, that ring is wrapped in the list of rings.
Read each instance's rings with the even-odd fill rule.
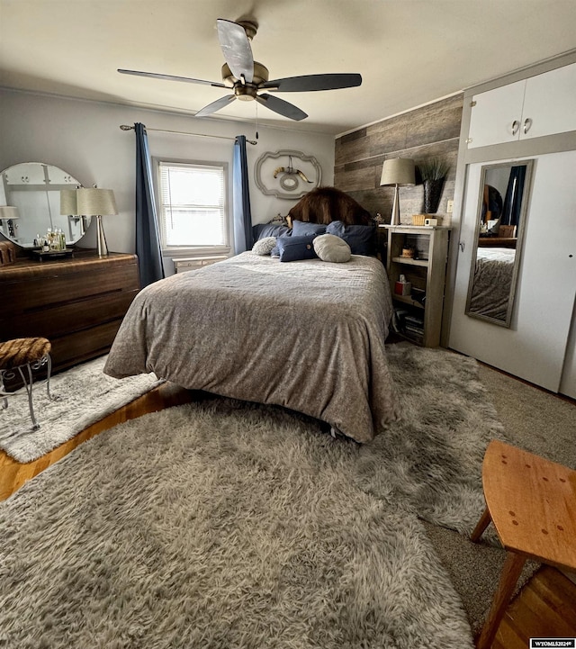
[[[514,248],[478,248],[469,311],[506,320],[515,258]]]

